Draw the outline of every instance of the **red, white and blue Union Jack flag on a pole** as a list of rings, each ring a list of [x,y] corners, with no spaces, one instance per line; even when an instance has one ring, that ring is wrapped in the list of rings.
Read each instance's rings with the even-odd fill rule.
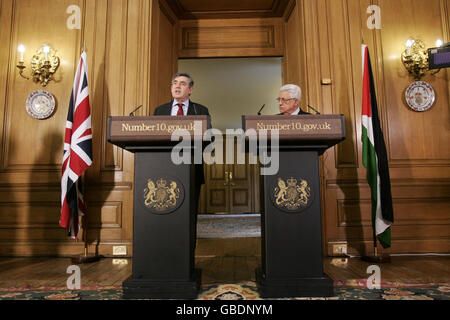
[[[81,54],[70,97],[64,139],[59,225],[77,239],[78,217],[86,213],[81,176],[92,164],[91,107],[89,104],[87,55]]]

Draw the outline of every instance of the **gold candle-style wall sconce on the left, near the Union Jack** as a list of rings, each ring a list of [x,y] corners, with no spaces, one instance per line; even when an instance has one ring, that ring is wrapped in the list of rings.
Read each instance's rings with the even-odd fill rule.
[[[19,63],[17,64],[19,75],[28,80],[29,78],[23,74],[23,71],[26,68],[23,59],[25,46],[21,44],[17,50],[19,52]],[[59,57],[56,55],[56,51],[48,45],[43,45],[36,51],[31,59],[31,76],[33,81],[40,83],[43,87],[46,87],[50,81],[54,80],[53,74],[56,72],[58,67]]]

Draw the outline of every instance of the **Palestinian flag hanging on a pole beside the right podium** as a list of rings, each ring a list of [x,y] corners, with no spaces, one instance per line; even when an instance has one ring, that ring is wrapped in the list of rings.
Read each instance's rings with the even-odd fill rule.
[[[394,222],[391,180],[386,145],[381,131],[369,50],[362,46],[362,163],[367,169],[367,182],[372,195],[372,226],[374,236],[383,248],[391,246],[391,224]],[[375,243],[376,244],[376,243]]]

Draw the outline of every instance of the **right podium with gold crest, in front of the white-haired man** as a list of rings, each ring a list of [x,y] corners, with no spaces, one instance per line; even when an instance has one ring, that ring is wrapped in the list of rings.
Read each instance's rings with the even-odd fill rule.
[[[269,139],[279,133],[279,171],[261,175],[260,296],[332,296],[322,264],[319,156],[345,139],[344,116],[243,116],[243,128],[253,129],[258,148],[265,130]]]

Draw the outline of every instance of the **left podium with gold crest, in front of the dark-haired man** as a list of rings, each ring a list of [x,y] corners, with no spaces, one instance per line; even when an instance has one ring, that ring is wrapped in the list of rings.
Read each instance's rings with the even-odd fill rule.
[[[209,123],[209,116],[109,117],[108,141],[135,154],[133,273],[122,285],[126,299],[198,295],[193,155]],[[191,136],[192,164],[172,161],[177,129]]]

